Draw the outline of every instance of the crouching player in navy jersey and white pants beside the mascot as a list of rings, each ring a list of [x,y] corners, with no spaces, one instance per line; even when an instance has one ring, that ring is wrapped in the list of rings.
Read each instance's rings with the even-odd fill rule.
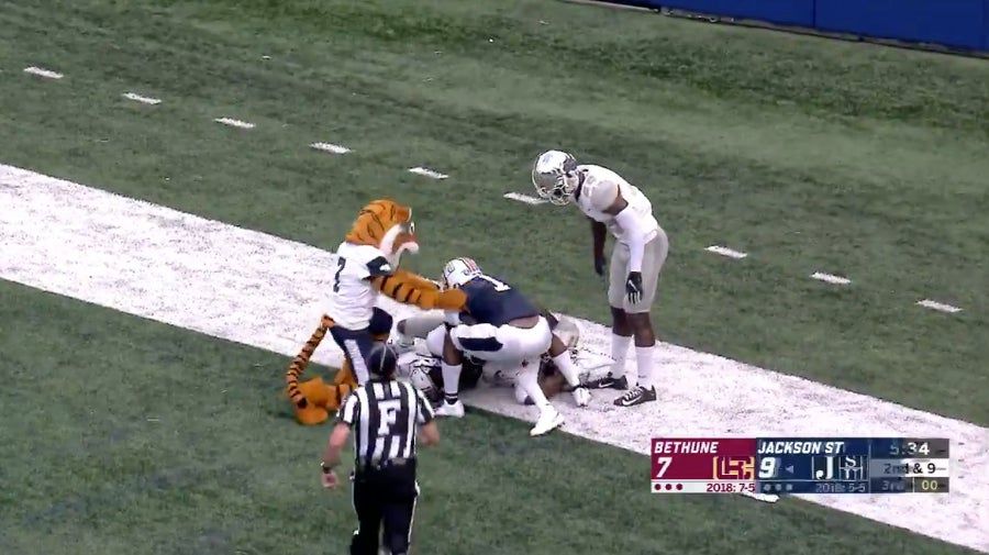
[[[436,415],[464,415],[457,386],[464,357],[471,356],[515,369],[516,382],[540,410],[531,435],[542,435],[563,424],[563,415],[549,403],[538,385],[540,359],[554,345],[549,323],[540,310],[518,289],[485,275],[470,258],[448,262],[443,268],[441,285],[444,290],[463,291],[467,301],[465,310],[446,312],[447,333],[442,362],[444,399]],[[567,382],[577,388],[574,399],[579,406],[587,404],[590,396],[579,387],[577,366],[558,338],[553,363]]]

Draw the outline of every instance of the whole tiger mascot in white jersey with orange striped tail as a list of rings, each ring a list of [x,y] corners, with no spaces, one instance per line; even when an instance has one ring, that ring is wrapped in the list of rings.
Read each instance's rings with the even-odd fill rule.
[[[387,341],[391,332],[391,317],[374,307],[379,293],[398,302],[423,310],[460,310],[466,297],[456,289],[440,290],[438,285],[422,276],[399,269],[403,253],[416,253],[419,243],[412,222],[412,209],[392,200],[375,200],[364,207],[336,253],[337,265],[330,293],[327,312],[292,359],[286,373],[286,393],[301,424],[314,425],[326,421],[343,399],[366,376],[355,374],[349,353],[360,362],[358,371],[366,374],[357,344]],[[321,377],[300,381],[313,352],[326,336],[344,351],[344,364],[332,384]]]

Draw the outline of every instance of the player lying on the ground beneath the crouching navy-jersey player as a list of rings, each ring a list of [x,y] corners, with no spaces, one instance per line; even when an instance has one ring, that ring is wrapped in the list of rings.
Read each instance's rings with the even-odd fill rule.
[[[552,399],[563,391],[577,391],[577,387],[567,384],[563,373],[556,368],[553,363],[554,355],[558,355],[564,349],[569,352],[570,358],[574,359],[577,354],[578,343],[580,341],[580,331],[577,324],[567,317],[557,319],[547,310],[542,311],[543,318],[549,322],[549,329],[553,332],[554,340],[549,351],[540,359],[538,385],[543,395],[547,399]],[[446,336],[446,326],[443,324],[441,315],[418,315],[401,320],[398,325],[399,341],[397,347],[403,353],[399,357],[399,373],[402,377],[409,379],[416,388],[423,391],[430,401],[437,404],[443,401],[443,343]],[[415,340],[422,340],[415,342]],[[464,391],[474,389],[477,382],[484,378],[485,381],[494,386],[511,386],[514,390],[515,400],[522,404],[534,404],[535,401],[529,397],[529,393],[515,380],[514,371],[518,374],[519,368],[511,368],[503,364],[485,363],[473,357],[465,357],[463,360],[463,370],[460,371],[460,380],[457,390]],[[577,392],[578,396],[585,396],[586,390]],[[589,393],[586,393],[589,397]],[[580,402],[582,402],[581,399]]]

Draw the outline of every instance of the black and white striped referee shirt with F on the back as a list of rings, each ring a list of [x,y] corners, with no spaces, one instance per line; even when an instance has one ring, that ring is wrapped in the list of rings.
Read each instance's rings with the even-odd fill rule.
[[[433,408],[407,381],[373,379],[347,396],[336,420],[354,430],[356,467],[374,467],[413,458],[416,430],[433,420]]]

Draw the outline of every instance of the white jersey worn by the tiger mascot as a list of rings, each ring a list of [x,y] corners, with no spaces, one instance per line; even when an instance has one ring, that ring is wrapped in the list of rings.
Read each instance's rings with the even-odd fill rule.
[[[370,324],[378,290],[371,276],[390,274],[388,258],[377,247],[341,243],[333,255],[331,289],[326,299],[326,315],[343,328],[360,330]]]

